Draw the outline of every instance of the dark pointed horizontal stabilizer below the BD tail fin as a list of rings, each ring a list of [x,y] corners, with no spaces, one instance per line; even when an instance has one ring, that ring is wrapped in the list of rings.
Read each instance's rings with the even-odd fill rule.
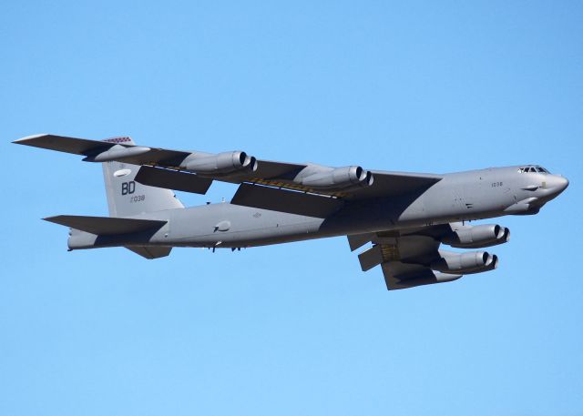
[[[151,228],[161,228],[168,221],[158,219],[114,218],[114,217],[87,217],[77,215],[57,215],[43,218],[69,228],[80,229],[98,236],[128,234],[146,231]]]

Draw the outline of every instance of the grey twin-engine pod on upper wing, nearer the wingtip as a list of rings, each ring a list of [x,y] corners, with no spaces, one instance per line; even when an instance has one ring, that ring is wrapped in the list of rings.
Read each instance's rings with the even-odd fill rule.
[[[257,170],[255,157],[245,152],[223,152],[216,155],[193,153],[180,164],[180,167],[199,175],[230,176]]]

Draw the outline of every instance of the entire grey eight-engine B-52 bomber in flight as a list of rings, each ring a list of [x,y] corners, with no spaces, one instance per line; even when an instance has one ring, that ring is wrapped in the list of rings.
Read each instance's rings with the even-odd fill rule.
[[[347,236],[363,271],[381,266],[388,289],[496,269],[483,249],[508,228],[466,221],[537,214],[568,179],[534,165],[434,175],[326,167],[136,146],[130,137],[87,140],[36,135],[16,144],[103,164],[109,217],[44,218],[71,228],[68,248],[125,247],[147,259],[173,247],[240,249]],[[237,184],[230,202],[184,208],[173,190],[205,194],[213,180]]]

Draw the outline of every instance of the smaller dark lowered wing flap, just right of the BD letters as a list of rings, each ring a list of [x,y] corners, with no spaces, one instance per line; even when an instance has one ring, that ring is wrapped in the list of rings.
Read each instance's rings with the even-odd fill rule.
[[[142,166],[136,181],[150,187],[167,188],[204,195],[212,184],[212,179],[198,175],[160,167]]]

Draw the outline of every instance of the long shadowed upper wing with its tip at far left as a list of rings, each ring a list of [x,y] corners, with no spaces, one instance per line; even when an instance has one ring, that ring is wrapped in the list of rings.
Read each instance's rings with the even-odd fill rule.
[[[346,173],[350,168],[356,169],[357,167],[334,168],[309,163],[276,162],[247,157],[244,152],[232,152],[233,155],[245,155],[251,161],[253,168],[240,169],[240,171],[230,173],[219,170],[201,172],[192,167],[192,161],[212,160],[212,157],[217,158],[217,160],[219,160],[218,157],[223,157],[221,160],[224,160],[224,157],[230,157],[228,155],[230,152],[213,155],[198,151],[135,146],[129,137],[114,137],[102,141],[45,134],[24,137],[15,140],[15,143],[81,155],[85,157],[83,160],[90,162],[116,160],[141,165],[136,180],[144,185],[200,194],[206,192],[212,180],[220,180],[234,184],[255,184],[348,200],[385,198],[429,188],[442,178],[431,174],[371,170],[366,171],[366,186],[353,185],[346,179],[346,184],[351,185],[350,187],[334,187],[333,183],[331,187],[318,185],[317,181],[310,182],[298,178],[309,176],[306,172],[312,175],[311,178],[322,180],[321,177],[326,175],[330,178],[336,178],[338,172]],[[360,169],[358,172],[362,174],[363,169]],[[253,203],[256,202],[253,201]]]

